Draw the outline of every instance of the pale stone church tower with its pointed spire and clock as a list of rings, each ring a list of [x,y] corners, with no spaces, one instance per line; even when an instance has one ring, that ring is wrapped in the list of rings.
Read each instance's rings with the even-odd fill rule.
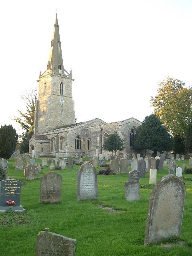
[[[47,68],[43,74],[39,74],[34,134],[75,123],[72,81],[72,72],[69,74],[63,66],[56,15]]]

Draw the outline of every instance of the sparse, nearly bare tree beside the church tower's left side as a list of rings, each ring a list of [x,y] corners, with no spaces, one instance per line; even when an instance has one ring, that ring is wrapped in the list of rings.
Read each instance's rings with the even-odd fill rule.
[[[21,153],[28,152],[28,142],[33,135],[34,122],[35,122],[35,104],[37,100],[37,88],[30,89],[21,95],[22,100],[26,104],[26,112],[19,110],[20,116],[13,118],[20,124],[24,132],[20,135]]]

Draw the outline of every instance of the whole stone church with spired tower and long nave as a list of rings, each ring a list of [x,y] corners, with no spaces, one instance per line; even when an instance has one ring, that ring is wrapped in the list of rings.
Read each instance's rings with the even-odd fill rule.
[[[132,142],[137,127],[142,123],[131,117],[123,121],[106,123],[99,118],[76,123],[72,98],[72,70],[63,66],[58,18],[50,42],[50,54],[44,73],[37,82],[34,134],[29,141],[29,153],[35,157],[94,157],[111,154],[102,144],[116,130],[124,140],[124,150],[117,155],[134,152]]]

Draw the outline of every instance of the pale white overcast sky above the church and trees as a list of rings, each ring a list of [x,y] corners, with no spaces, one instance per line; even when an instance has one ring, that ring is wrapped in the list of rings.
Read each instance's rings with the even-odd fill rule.
[[[166,76],[192,84],[192,0],[2,1],[0,125],[46,70],[56,12],[77,122],[143,121]]]

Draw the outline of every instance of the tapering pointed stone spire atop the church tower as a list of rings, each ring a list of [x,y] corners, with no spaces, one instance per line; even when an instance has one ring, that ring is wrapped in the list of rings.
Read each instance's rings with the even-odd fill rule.
[[[51,40],[51,49],[50,49],[50,54],[49,54],[49,59],[47,64],[47,71],[49,70],[59,74],[64,74],[57,14],[55,19],[54,31],[53,31],[53,36]]]

